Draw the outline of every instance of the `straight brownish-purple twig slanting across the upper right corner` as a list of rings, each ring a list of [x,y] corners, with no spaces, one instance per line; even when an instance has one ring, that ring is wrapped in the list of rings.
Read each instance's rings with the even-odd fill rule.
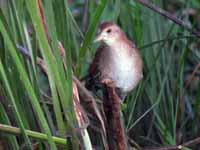
[[[169,12],[161,9],[160,7],[154,5],[153,3],[147,1],[147,0],[136,0],[140,4],[144,5],[145,7],[150,8],[151,10],[159,13],[160,15],[170,19],[174,23],[178,24],[179,26],[183,27],[184,29],[188,30],[192,34],[196,35],[197,37],[200,37],[200,31],[193,30],[188,24],[186,24],[184,21],[178,19],[176,16],[170,14]]]

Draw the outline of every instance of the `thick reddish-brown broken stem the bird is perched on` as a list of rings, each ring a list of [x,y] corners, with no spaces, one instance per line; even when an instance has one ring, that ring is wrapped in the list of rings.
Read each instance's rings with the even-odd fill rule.
[[[120,98],[115,88],[105,86],[104,111],[106,114],[106,129],[109,142],[109,149],[126,149],[126,140],[123,124],[120,117]]]

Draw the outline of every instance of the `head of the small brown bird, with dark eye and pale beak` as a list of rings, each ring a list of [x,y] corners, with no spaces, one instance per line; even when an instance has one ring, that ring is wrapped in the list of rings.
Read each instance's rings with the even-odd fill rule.
[[[117,42],[121,36],[123,36],[123,32],[119,26],[113,22],[103,22],[98,28],[95,42],[101,41],[107,45],[112,45],[114,42]]]

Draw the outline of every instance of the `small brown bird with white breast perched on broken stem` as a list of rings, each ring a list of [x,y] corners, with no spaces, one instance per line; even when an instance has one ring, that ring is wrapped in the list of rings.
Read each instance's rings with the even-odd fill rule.
[[[142,79],[142,59],[135,44],[113,22],[100,24],[95,39],[101,42],[89,67],[86,87],[96,89],[99,85],[115,87],[123,100]]]

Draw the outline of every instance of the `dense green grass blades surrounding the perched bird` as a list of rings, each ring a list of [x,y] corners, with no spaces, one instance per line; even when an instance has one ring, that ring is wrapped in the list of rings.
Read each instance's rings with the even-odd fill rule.
[[[198,0],[152,2],[200,30]],[[78,149],[78,143],[90,149],[91,141],[102,141],[95,134],[79,141],[72,74],[87,74],[96,28],[105,20],[122,27],[144,60],[144,79],[122,105],[129,147],[179,145],[200,136],[200,70],[193,73],[200,43],[180,26],[135,0],[0,0],[0,8],[0,149]],[[31,61],[17,44],[29,49]],[[103,149],[102,142],[93,146]]]

